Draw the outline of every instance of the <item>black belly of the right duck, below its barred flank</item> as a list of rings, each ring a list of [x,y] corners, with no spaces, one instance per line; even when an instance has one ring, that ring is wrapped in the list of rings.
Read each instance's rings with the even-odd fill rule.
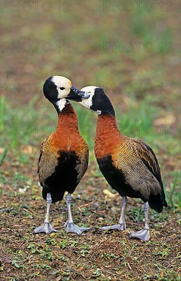
[[[104,175],[108,183],[121,196],[141,198],[144,202],[146,202],[139,191],[134,191],[130,184],[125,183],[125,177],[121,170],[117,170],[114,167],[111,155],[98,158],[97,163],[101,173]]]

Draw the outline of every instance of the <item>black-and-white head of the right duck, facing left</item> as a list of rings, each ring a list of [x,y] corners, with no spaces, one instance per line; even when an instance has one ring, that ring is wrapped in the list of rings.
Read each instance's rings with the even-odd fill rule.
[[[115,115],[114,108],[110,99],[106,96],[104,89],[97,86],[86,86],[82,88],[81,91],[86,92],[89,95],[89,98],[85,99],[84,97],[77,97],[77,99],[75,98],[74,101],[77,101],[84,107],[97,112],[98,115]]]

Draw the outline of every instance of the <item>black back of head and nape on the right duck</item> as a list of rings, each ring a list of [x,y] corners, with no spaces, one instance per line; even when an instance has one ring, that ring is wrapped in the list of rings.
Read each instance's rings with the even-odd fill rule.
[[[92,97],[92,106],[90,109],[93,111],[100,110],[101,114],[115,116],[113,105],[102,88],[95,89],[94,96]]]

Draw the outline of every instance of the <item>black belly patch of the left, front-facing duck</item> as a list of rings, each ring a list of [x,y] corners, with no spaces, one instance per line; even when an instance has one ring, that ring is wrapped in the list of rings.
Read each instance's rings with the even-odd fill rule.
[[[65,191],[74,192],[79,183],[77,182],[77,171],[75,169],[79,161],[75,152],[61,152],[55,172],[47,177],[43,184],[40,180],[43,187],[42,196],[45,200],[47,193],[51,194],[51,199],[54,203],[63,199]]]

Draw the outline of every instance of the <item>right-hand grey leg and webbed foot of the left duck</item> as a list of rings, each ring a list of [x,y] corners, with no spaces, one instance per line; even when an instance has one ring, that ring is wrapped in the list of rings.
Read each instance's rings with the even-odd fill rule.
[[[71,214],[71,194],[68,193],[66,199],[67,207],[68,207],[68,221],[65,223],[66,231],[73,232],[77,235],[82,235],[82,232],[89,230],[90,228],[80,227],[73,223],[72,214]]]

